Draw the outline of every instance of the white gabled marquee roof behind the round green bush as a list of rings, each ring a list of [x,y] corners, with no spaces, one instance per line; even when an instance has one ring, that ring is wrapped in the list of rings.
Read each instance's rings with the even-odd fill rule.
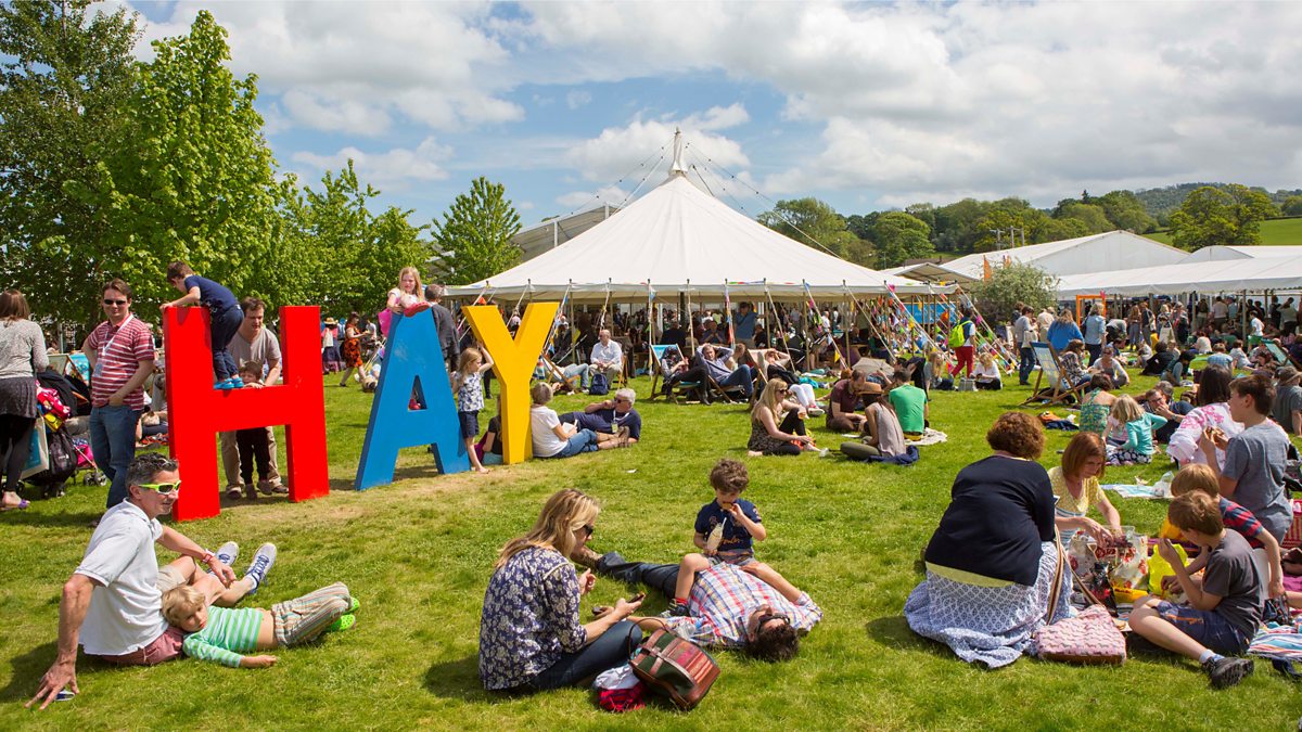
[[[990,267],[1000,267],[1008,262],[1021,262],[1034,264],[1049,275],[1065,276],[1079,272],[1107,272],[1178,264],[1187,257],[1189,253],[1182,249],[1176,249],[1174,246],[1130,232],[1116,231],[969,254],[945,262],[944,267],[979,280],[986,274],[987,263]]]

